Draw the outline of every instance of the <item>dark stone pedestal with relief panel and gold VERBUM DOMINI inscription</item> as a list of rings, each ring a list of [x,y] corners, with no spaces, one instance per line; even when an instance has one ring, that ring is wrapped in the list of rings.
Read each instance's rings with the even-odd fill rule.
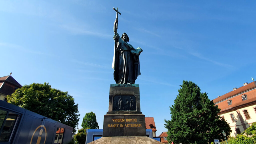
[[[138,84],[111,84],[109,112],[104,115],[103,137],[146,136]]]

